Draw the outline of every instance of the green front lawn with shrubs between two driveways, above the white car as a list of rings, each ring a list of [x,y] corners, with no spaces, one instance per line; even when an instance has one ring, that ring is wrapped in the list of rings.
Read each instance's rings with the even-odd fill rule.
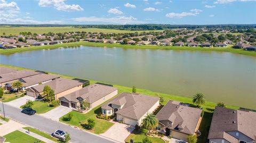
[[[79,127],[81,129],[85,129],[80,123],[82,124],[86,124],[87,123],[87,119],[92,118],[95,120],[96,124],[95,124],[95,128],[93,130],[87,130],[96,134],[100,134],[103,133],[105,131],[107,131],[112,125],[113,123],[107,121],[107,120],[103,120],[103,119],[98,119],[96,117],[96,115],[98,113],[100,113],[101,109],[100,106],[97,106],[95,108],[93,108],[93,110],[91,110],[90,112],[86,113],[86,114],[82,114],[76,111],[71,111],[69,113],[73,114],[73,118],[70,121],[66,121],[65,120],[65,116],[64,115],[60,118],[61,122],[70,124],[70,125],[75,125],[76,127]]]

